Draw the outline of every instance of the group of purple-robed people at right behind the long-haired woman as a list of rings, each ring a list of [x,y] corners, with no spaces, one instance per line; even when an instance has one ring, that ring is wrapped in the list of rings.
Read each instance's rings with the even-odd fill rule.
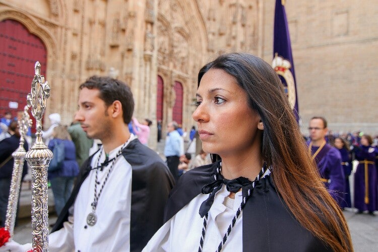
[[[374,141],[360,132],[329,133],[327,120],[320,116],[311,118],[308,130],[308,149],[331,196],[342,209],[354,207],[358,214],[367,211],[374,216],[378,210],[378,136]]]

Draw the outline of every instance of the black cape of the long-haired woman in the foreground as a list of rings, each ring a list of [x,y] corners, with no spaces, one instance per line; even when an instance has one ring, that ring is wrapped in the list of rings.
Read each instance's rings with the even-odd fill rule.
[[[168,221],[213,182],[219,161],[184,173],[170,193]],[[273,171],[274,172],[274,171]],[[199,217],[199,213],[195,213]],[[260,179],[243,209],[243,251],[332,251],[299,224],[274,187],[270,175]],[[200,233],[198,237],[200,238]],[[219,241],[220,242],[220,241]],[[216,250],[216,248],[214,248]]]

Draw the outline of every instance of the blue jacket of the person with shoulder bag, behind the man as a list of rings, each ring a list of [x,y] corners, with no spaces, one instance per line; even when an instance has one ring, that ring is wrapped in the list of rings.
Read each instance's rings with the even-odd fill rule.
[[[54,138],[48,143],[48,148],[51,151],[54,150],[55,141],[58,143],[64,143],[65,145],[65,162],[62,169],[48,172],[48,178],[77,176],[79,174],[79,164],[76,162],[76,149],[74,142]]]

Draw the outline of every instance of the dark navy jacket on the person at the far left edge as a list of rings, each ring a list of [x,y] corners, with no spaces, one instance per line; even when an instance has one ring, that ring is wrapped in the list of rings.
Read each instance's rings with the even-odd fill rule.
[[[0,142],[0,163],[3,163],[12,153],[17,150],[20,145],[20,138],[13,135],[9,138],[3,139]],[[24,149],[28,151],[28,143],[24,142]],[[13,157],[3,167],[0,168],[0,178],[12,178],[13,171]],[[24,168],[22,170],[22,178],[28,173],[27,161],[24,162]]]

